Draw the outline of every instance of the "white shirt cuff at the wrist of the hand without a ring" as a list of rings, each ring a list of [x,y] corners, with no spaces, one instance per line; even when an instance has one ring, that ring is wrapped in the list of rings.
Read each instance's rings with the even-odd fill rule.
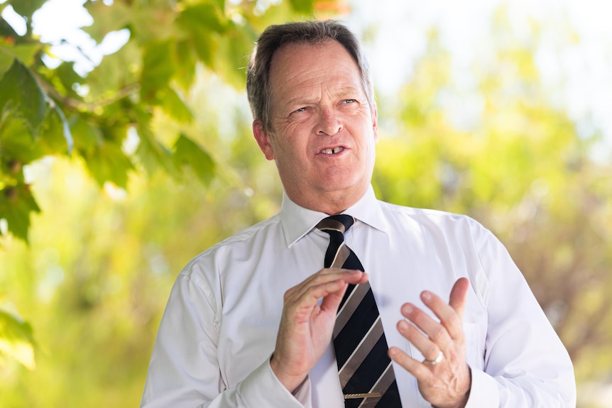
[[[297,387],[294,394],[278,380],[270,366],[270,359],[256,368],[239,385],[238,393],[247,407],[310,408],[310,378]]]

